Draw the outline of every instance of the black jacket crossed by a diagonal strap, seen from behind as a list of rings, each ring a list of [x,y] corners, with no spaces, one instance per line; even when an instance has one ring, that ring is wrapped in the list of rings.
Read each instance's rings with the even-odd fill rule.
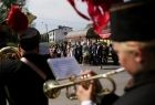
[[[24,55],[46,74],[54,78],[46,60],[39,54]],[[48,105],[43,93],[44,80],[20,60],[7,60],[0,63],[0,105]]]

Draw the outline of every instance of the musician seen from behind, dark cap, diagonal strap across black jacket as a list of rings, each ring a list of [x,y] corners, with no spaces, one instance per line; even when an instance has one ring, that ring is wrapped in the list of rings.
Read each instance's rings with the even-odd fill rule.
[[[19,34],[21,59],[40,69],[41,76],[33,67],[21,60],[3,60],[0,63],[0,105],[49,105],[43,92],[43,83],[54,80],[46,59],[39,54],[40,33],[28,28]]]

